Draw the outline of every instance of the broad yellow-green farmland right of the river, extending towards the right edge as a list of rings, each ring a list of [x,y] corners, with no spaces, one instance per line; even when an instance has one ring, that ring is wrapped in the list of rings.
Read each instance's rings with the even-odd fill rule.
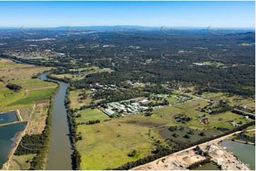
[[[89,93],[83,102],[78,102],[79,95],[83,92]],[[69,91],[69,99],[71,100],[70,107],[79,109],[80,105],[88,105],[93,93],[89,90],[72,90]],[[180,101],[175,97],[184,97],[183,93],[177,91],[173,95],[157,95],[152,94],[150,97],[157,97],[167,99],[170,104],[176,104]],[[219,97],[221,94],[216,95]],[[140,97],[140,99],[144,99]],[[215,99],[216,104],[211,104],[215,107],[218,103],[218,98]],[[150,100],[150,102],[158,102],[158,100]],[[208,112],[201,112],[201,109],[210,105],[206,100],[193,99],[190,102],[183,102],[177,105],[160,107],[155,109],[149,117],[146,117],[143,112],[138,114],[130,114],[126,117],[108,117],[101,112],[102,107],[95,107],[94,109],[87,108],[78,110],[76,122],[79,140],[76,142],[76,148],[82,156],[81,169],[82,170],[104,170],[123,165],[130,161],[138,160],[148,155],[152,155],[152,151],[156,148],[155,143],[162,143],[165,145],[165,138],[161,136],[160,131],[162,126],[184,126],[196,132],[206,132],[206,137],[221,134],[223,130],[231,130],[235,127],[230,122],[241,122],[245,124],[251,122],[252,119],[244,119],[242,115],[233,112],[224,112],[221,114],[211,115]],[[190,117],[189,122],[179,122],[176,119],[178,114],[184,114]],[[199,122],[199,117],[208,119],[208,124]],[[82,124],[89,120],[99,119],[98,124]],[[198,141],[204,136],[198,134],[191,135],[191,139],[184,138],[185,141]],[[173,134],[169,131],[168,134]],[[182,134],[187,134],[186,131]],[[182,139],[182,137],[174,138]],[[104,142],[104,143],[102,143]],[[166,145],[165,145],[166,146]],[[97,153],[95,153],[95,151]],[[129,157],[128,154],[136,151],[136,155]],[[101,165],[99,165],[99,160]]]

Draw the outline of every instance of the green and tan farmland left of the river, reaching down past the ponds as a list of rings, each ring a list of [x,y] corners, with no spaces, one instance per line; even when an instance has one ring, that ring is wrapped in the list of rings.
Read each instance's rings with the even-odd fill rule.
[[[17,64],[9,59],[0,59],[0,112],[16,110],[18,122],[27,122],[23,135],[41,134],[45,129],[49,98],[57,84],[32,77],[50,69],[52,67]],[[10,83],[20,87],[20,90],[7,88]],[[33,157],[35,154],[11,155],[8,169],[29,170]]]

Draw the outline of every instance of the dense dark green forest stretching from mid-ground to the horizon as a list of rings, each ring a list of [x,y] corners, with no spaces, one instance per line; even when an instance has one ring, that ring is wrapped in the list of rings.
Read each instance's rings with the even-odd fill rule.
[[[8,32],[2,34],[9,36]],[[79,81],[62,78],[76,88],[94,83],[125,87],[126,81],[159,87],[168,82],[169,86],[177,83],[195,86],[199,93],[221,90],[238,95],[255,94],[255,33],[252,32],[224,36],[211,35],[204,29],[176,36],[159,31],[141,31],[133,36],[113,31],[66,34],[59,30],[29,37],[13,30],[10,39],[1,40],[6,44],[0,47],[0,54],[15,58],[19,54],[30,57],[32,52],[39,53],[42,58],[19,59],[32,64],[62,66],[57,73],[74,73],[75,69],[89,66],[113,71],[91,73]],[[49,40],[40,40],[45,37]],[[40,40],[33,41],[37,46],[30,46],[32,38]],[[45,58],[45,51],[49,50],[57,56]]]

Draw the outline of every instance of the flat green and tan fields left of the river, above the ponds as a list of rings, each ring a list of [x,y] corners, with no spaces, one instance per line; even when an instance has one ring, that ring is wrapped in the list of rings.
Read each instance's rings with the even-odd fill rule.
[[[53,90],[26,91],[24,89],[57,86],[55,83],[31,79],[35,74],[48,71],[52,69],[51,67],[16,64],[9,59],[1,59],[0,64],[11,64],[0,68],[0,78],[4,81],[4,83],[0,83],[0,111],[31,107],[36,100],[49,98],[49,91],[52,92]],[[13,92],[6,88],[7,83],[16,83],[23,86],[23,89],[19,92]]]

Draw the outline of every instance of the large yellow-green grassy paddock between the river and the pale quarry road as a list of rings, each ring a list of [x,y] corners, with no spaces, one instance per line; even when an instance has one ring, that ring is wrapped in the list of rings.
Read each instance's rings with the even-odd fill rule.
[[[151,155],[153,142],[148,131],[157,124],[167,121],[158,117],[130,115],[124,119],[111,119],[93,125],[79,125],[82,141],[77,146],[82,155],[82,170],[104,170]],[[138,156],[128,157],[128,153],[138,151]],[[100,163],[100,164],[99,164]]]

